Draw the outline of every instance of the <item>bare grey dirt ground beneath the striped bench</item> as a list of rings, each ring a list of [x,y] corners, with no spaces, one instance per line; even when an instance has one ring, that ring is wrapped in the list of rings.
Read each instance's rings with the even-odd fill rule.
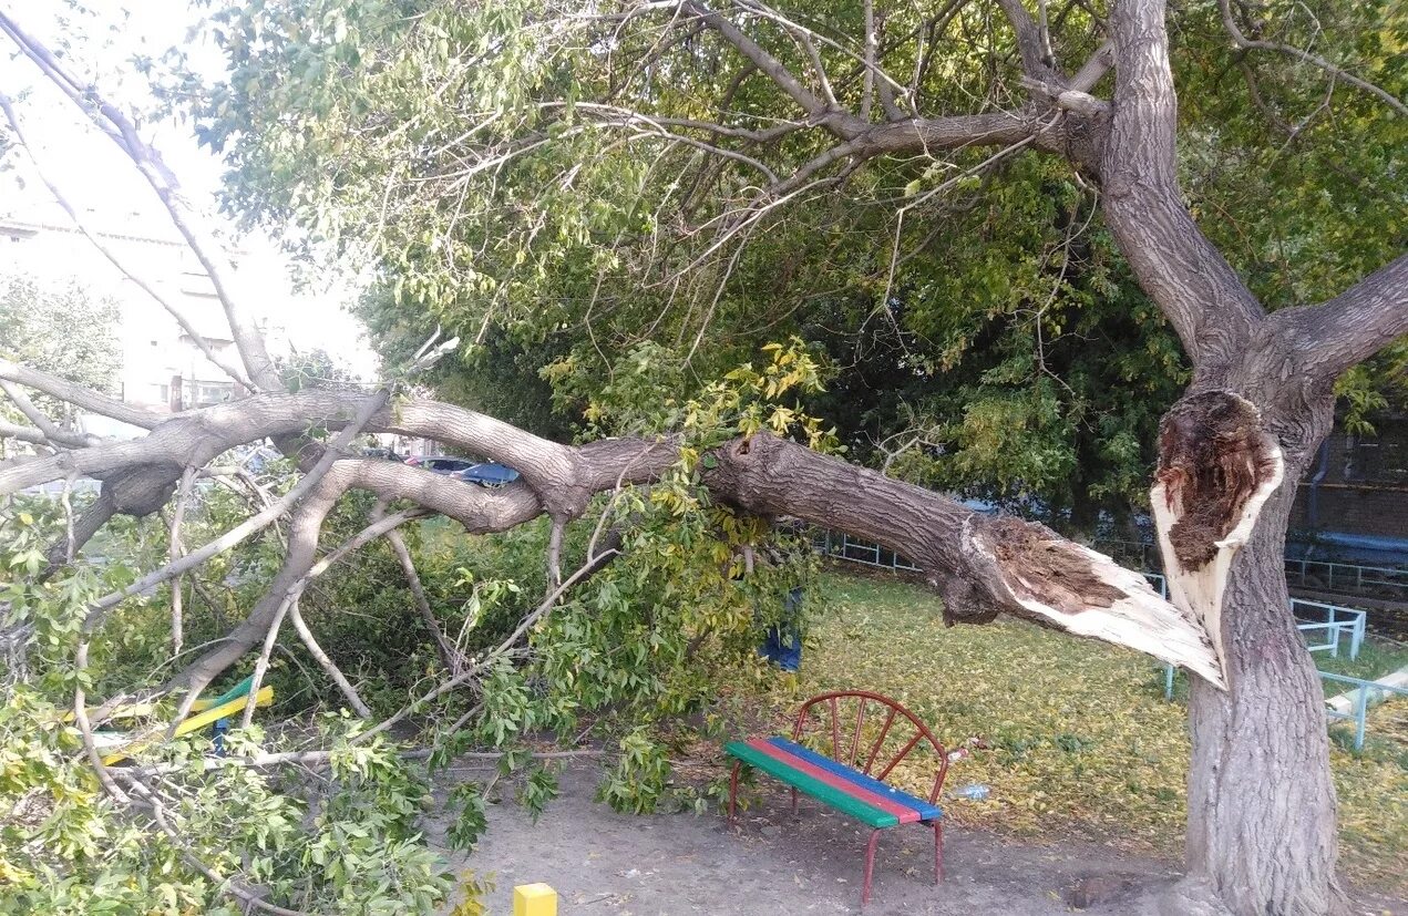
[[[729,827],[715,813],[617,815],[591,801],[596,772],[562,774],[562,796],[531,825],[515,805],[494,805],[472,860],[455,858],[497,885],[494,916],[513,912],[513,888],[552,885],[562,916],[801,916],[859,913],[867,830],[803,799],[794,818],[786,788],[759,787],[760,805]],[[953,802],[962,803],[962,802]],[[432,833],[442,843],[442,834]],[[934,834],[895,827],[880,837],[867,916],[1048,916],[1087,912],[1152,916],[1177,879],[1169,863],[1090,844],[1029,846],[963,829],[945,832],[946,879],[935,886]],[[1067,903],[1086,879],[1105,898]],[[1094,881],[1091,881],[1094,879]],[[1408,916],[1394,901],[1359,901],[1356,913]]]

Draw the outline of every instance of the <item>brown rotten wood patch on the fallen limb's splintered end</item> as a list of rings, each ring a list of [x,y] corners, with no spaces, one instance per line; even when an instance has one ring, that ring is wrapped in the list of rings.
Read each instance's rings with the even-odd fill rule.
[[[1063,613],[1110,608],[1124,592],[1097,575],[1090,557],[1042,525],[998,518],[988,532],[1008,588]]]

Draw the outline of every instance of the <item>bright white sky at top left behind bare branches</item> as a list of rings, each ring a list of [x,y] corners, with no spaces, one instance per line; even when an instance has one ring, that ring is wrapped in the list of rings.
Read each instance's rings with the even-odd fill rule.
[[[131,65],[134,55],[158,58],[170,46],[182,46],[190,63],[207,77],[222,70],[215,48],[191,39],[200,13],[186,0],[86,0],[83,6],[90,14],[73,13],[66,0],[6,6],[17,7],[7,13],[23,30],[130,113],[151,106],[145,79]],[[44,162],[46,177],[86,214],[84,221],[100,229],[175,236],[165,208],[132,163],[87,124],[34,63],[7,45],[8,39],[0,38],[0,87],[15,98],[27,139]],[[142,122],[141,134],[161,151],[186,197],[206,212],[208,224],[241,252],[241,273],[251,279],[251,298],[268,305],[276,321],[287,328],[293,345],[304,350],[325,349],[360,376],[370,377],[376,357],[360,324],[344,308],[358,288],[353,270],[322,274],[321,288],[294,290],[290,262],[276,238],[269,232],[241,235],[230,220],[215,212],[224,163],[197,145],[189,125]],[[17,152],[11,160],[15,169],[0,174],[0,214],[69,222],[37,180],[28,156]],[[14,269],[13,265],[0,266]]]

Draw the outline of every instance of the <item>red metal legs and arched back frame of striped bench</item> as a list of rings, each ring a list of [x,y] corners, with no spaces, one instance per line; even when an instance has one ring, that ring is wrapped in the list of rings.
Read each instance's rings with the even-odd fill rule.
[[[841,704],[842,701],[855,699],[856,701],[856,715],[855,722],[849,723],[849,716],[846,716],[848,723],[842,723]],[[866,757],[860,760],[860,740],[862,727],[866,723],[866,709],[870,704],[880,706],[881,713],[886,716],[884,725],[880,726],[880,734],[869,743],[866,749]],[[880,694],[873,694],[870,691],[831,691],[826,694],[818,694],[801,705],[797,711],[797,722],[793,726],[793,739],[800,742],[803,730],[807,726],[807,718],[814,709],[821,706],[819,715],[829,715],[831,726],[831,758],[839,764],[850,767],[859,772],[863,772],[876,780],[884,781],[887,775],[914,751],[917,747],[922,747],[926,742],[934,750],[938,760],[938,771],[934,774],[934,788],[929,791],[929,803],[938,805],[939,792],[943,789],[943,777],[949,771],[949,758],[939,744],[939,740],[934,737],[929,727],[919,720],[912,712],[910,712],[900,702],[883,696]],[[887,712],[886,712],[887,711]],[[886,757],[883,761],[880,758],[880,751],[884,749],[886,737],[890,734],[891,726],[895,725],[895,719],[901,718],[908,720],[914,726],[914,737],[911,737],[898,751]],[[824,719],[825,722],[825,719]],[[842,727],[845,725],[845,729]],[[843,734],[845,732],[845,734]],[[843,742],[842,737],[849,740]],[[825,753],[824,749],[815,749],[818,753]],[[880,765],[879,771],[876,767]],[[738,806],[738,775],[743,767],[743,761],[739,760],[734,764],[734,771],[729,777],[728,785],[728,820],[732,823],[735,820],[735,812]],[[797,813],[797,789],[791,789],[793,813]],[[943,881],[943,819],[935,818],[934,820],[921,820],[921,826],[934,827],[934,884]],[[860,889],[860,903],[865,906],[870,902],[870,879],[874,874],[876,864],[876,846],[880,841],[880,832],[887,827],[874,827],[870,830],[870,841],[866,844],[866,878]]]

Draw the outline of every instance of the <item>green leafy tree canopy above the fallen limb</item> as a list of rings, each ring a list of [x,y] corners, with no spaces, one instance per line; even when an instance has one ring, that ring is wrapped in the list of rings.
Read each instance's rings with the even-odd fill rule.
[[[1026,91],[997,7],[879,11],[870,77],[865,8],[727,14],[836,110],[995,108]],[[1188,366],[1079,163],[835,155],[755,61],[680,15],[241,4],[214,15],[231,76],[201,136],[235,165],[232,207],[382,266],[362,311],[387,353],[436,324],[477,343],[436,377],[466,402],[558,431],[584,408],[610,416],[621,373],[648,367],[681,397],[798,335],[832,390],[812,409],[860,460],[1081,528],[1140,505]],[[1048,42],[1074,66],[1102,15],[1064,8]],[[1404,93],[1395,4],[1271,4],[1245,25]],[[1401,249],[1408,134],[1381,98],[1339,69],[1229,46],[1211,4],[1173,11],[1170,34],[1188,205],[1259,298],[1325,298]],[[1346,377],[1356,418],[1391,377]]]

